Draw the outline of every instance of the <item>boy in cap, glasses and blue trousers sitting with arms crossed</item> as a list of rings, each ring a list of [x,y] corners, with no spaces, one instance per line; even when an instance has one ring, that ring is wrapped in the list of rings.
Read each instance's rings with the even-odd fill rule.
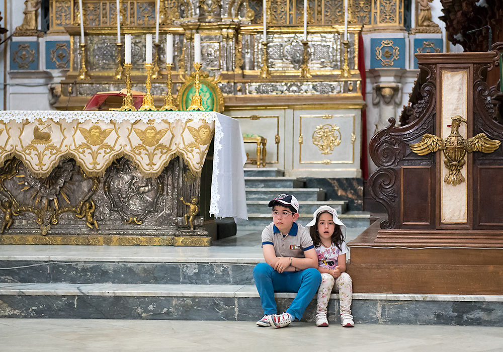
[[[318,290],[321,275],[318,257],[309,230],[295,222],[299,218],[299,202],[292,195],[280,194],[269,202],[273,222],[262,231],[262,252],[265,263],[253,271],[264,317],[259,326],[285,327],[301,319]],[[274,292],[296,292],[286,313],[276,314]]]

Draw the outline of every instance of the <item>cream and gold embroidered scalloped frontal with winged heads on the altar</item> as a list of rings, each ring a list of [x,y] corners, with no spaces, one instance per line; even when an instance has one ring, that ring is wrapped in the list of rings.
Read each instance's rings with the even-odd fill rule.
[[[65,157],[74,158],[88,175],[99,176],[115,159],[126,156],[145,177],[157,177],[178,155],[199,175],[215,130],[214,119],[207,121],[211,115],[204,113],[157,113],[156,118],[133,122],[57,119],[49,111],[9,120],[7,113],[0,114],[0,164],[14,154],[39,178],[47,177]]]

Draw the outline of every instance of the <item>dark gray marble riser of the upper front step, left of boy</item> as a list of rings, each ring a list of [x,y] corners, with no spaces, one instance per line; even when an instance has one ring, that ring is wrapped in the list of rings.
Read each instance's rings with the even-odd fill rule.
[[[183,257],[177,259],[186,262],[75,259],[1,260],[0,283],[253,285],[253,268],[263,261],[261,256],[242,262],[232,257],[206,262]]]

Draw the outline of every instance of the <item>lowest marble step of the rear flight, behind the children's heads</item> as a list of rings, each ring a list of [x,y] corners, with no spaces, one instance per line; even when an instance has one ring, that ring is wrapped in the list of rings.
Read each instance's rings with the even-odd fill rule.
[[[325,202],[326,204],[326,202]],[[302,211],[302,210],[301,210]],[[312,213],[300,213],[299,220],[302,225],[306,225],[312,220]],[[339,218],[344,222],[348,228],[369,227],[370,226],[370,213],[364,211],[352,211],[341,214]],[[238,220],[238,229],[260,229],[264,228],[272,222],[271,213],[248,213],[248,220]]]

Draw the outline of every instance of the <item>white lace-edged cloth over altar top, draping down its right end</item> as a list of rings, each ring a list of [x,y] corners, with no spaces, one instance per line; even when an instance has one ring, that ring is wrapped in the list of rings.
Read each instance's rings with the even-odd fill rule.
[[[246,194],[243,166],[246,153],[237,120],[216,112],[172,111],[172,112],[118,112],[118,111],[0,111],[0,120],[23,124],[38,119],[52,121],[116,122],[151,120],[206,120],[215,123],[213,153],[213,175],[211,183],[210,214],[216,217],[247,219]],[[40,121],[40,120],[38,120]],[[7,132],[7,131],[6,131]],[[8,147],[9,140],[4,148]],[[11,141],[12,142],[12,141]],[[1,147],[1,146],[0,146]],[[16,154],[14,152],[13,154]],[[5,160],[5,159],[4,159]],[[2,162],[4,161],[2,160]]]

